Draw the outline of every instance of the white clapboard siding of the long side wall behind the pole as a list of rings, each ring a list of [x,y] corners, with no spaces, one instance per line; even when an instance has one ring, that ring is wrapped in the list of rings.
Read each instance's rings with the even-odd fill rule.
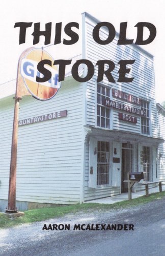
[[[67,110],[67,117],[19,126],[16,200],[80,202],[82,86],[72,80],[49,101],[26,96],[19,120]],[[14,100],[1,102],[1,199],[8,198]]]

